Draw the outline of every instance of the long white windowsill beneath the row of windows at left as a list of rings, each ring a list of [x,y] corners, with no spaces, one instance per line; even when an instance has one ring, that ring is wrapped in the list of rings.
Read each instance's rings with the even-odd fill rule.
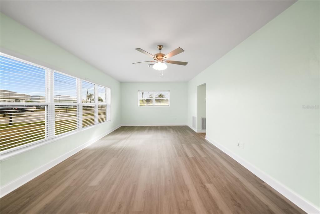
[[[28,144],[25,144],[25,145],[14,147],[12,149],[1,151],[0,152],[0,161],[6,160],[6,159],[11,158],[11,157],[13,157],[15,155],[19,155],[19,154],[21,154],[23,152],[26,152],[26,151],[29,151],[29,150],[33,150],[33,149],[35,149],[37,147],[52,143],[54,141],[61,140],[61,139],[66,138],[68,136],[74,135],[76,133],[80,133],[82,131],[91,129],[92,127],[97,127],[97,125],[106,124],[106,123],[108,123],[110,121],[111,120],[108,120],[108,121],[105,121],[105,122],[102,122],[102,123],[98,123],[98,124],[94,124],[94,125],[90,125],[90,126],[84,127],[82,129],[76,130],[74,132],[71,131],[69,133],[61,134],[59,136],[56,136],[56,137],[53,137],[53,138],[50,138],[50,139],[43,139],[43,140],[40,140],[40,141],[28,143]]]

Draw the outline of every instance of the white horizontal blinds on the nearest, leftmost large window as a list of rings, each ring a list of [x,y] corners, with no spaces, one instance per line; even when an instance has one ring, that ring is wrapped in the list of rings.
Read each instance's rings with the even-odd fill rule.
[[[0,56],[0,151],[45,138],[46,70]]]

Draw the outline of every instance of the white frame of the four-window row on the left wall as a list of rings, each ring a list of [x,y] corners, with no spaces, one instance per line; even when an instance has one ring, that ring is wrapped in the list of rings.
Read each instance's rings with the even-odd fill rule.
[[[27,150],[31,150],[34,149],[36,147],[45,145],[47,143],[51,143],[57,140],[60,140],[64,137],[79,133],[81,131],[84,131],[86,129],[95,127],[96,125],[100,125],[100,124],[104,124],[104,123],[108,123],[109,121],[111,121],[111,115],[108,116],[108,109],[111,109],[111,88],[107,87],[107,86],[103,86],[100,85],[98,83],[94,83],[91,81],[88,81],[86,79],[81,79],[72,75],[69,75],[67,73],[63,73],[54,69],[50,69],[48,67],[27,61],[27,60],[23,60],[21,58],[18,57],[14,57],[8,54],[4,54],[2,52],[0,52],[0,56],[4,56],[7,57],[9,59],[12,60],[17,60],[20,61],[22,63],[26,63],[26,64],[30,64],[33,66],[37,66],[39,68],[45,69],[45,102],[0,102],[0,105],[14,105],[14,106],[45,106],[46,107],[46,112],[45,112],[45,138],[38,140],[38,141],[33,141],[30,143],[26,143],[23,145],[18,145],[16,147],[12,147],[6,150],[2,150],[0,151],[0,160],[4,160],[7,158],[10,158],[16,154],[20,154],[21,152],[27,151]],[[72,78],[76,79],[76,92],[77,92],[77,101],[76,103],[74,102],[70,102],[70,103],[64,103],[64,102],[54,102],[54,73],[60,73],[62,75],[66,75]],[[92,84],[94,84],[94,103],[82,103],[82,94],[81,94],[81,90],[82,90],[82,81],[87,81],[90,82]],[[104,103],[99,103],[98,102],[98,91],[97,91],[97,87],[101,86],[106,88],[106,105],[108,106],[107,109],[107,113],[106,113],[106,121],[100,122],[98,123],[98,105],[104,104]],[[110,90],[110,97],[108,97],[108,90]],[[76,106],[77,107],[77,125],[76,125],[76,129],[75,130],[71,130],[68,131],[66,133],[60,133],[58,135],[55,135],[55,106],[68,106],[68,105],[72,105],[72,106]],[[86,126],[86,127],[82,127],[82,108],[83,105],[93,105],[95,106],[95,112],[94,112],[94,124],[90,125],[90,126]]]

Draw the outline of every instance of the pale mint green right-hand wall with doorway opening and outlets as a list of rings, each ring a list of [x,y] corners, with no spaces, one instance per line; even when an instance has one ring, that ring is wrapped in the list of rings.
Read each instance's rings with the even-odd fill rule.
[[[318,208],[319,7],[298,1],[188,82],[188,125],[206,83],[207,137]]]

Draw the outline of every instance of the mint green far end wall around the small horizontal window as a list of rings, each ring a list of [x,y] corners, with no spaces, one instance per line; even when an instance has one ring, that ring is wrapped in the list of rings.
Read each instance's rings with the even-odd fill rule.
[[[122,82],[123,124],[186,124],[186,82]],[[170,90],[170,107],[138,106],[138,90]]]

